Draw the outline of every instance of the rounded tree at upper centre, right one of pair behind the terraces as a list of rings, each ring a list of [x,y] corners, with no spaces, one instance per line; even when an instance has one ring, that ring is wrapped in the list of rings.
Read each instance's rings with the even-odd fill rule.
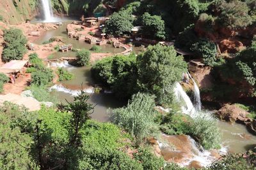
[[[146,12],[141,17],[141,23],[143,25],[143,34],[151,38],[165,39],[164,20],[160,16],[150,15]]]

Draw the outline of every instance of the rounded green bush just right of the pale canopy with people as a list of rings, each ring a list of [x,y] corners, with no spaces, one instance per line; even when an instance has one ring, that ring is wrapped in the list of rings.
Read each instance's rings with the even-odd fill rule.
[[[53,78],[53,73],[51,69],[41,68],[31,73],[31,83],[34,85],[49,85]]]

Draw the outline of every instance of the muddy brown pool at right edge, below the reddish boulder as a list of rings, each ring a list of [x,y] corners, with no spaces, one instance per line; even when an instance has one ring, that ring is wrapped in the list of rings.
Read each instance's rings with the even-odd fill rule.
[[[256,136],[247,131],[245,125],[218,122],[222,132],[223,145],[232,153],[246,152],[256,146]]]

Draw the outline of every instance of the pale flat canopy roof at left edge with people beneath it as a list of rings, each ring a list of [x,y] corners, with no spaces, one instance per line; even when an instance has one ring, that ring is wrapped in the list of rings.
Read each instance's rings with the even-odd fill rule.
[[[6,62],[3,66],[0,67],[0,73],[17,73],[19,72],[26,64],[28,60],[11,60]]]

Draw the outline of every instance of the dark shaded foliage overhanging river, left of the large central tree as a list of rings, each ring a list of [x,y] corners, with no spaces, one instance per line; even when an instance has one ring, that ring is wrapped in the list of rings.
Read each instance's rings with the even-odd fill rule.
[[[116,97],[120,99],[127,99],[138,92],[134,54],[115,55],[96,62],[92,67],[92,76],[97,82],[111,87]]]

